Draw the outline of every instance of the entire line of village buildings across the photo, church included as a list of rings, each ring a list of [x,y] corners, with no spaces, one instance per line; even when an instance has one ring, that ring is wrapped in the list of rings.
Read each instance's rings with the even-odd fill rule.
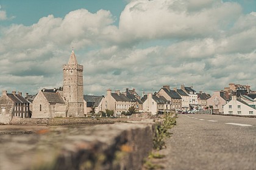
[[[42,89],[36,95],[26,94],[25,97],[21,92],[8,94],[6,90],[2,91],[0,123],[8,122],[12,117],[84,117],[90,113],[105,112],[107,109],[113,110],[118,116],[128,112],[130,107],[134,107],[137,112],[151,112],[153,115],[208,108],[221,114],[254,115],[256,113],[256,92],[247,85],[230,83],[229,87],[214,92],[212,96],[202,91],[196,93],[192,86],[184,85],[180,86],[180,89],[163,86],[158,92],[143,94],[143,97],[140,97],[135,89],[126,89],[125,92],[119,90],[112,92],[108,89],[105,96],[94,96],[84,95],[83,66],[77,63],[74,50],[69,56],[68,64],[63,64],[62,70],[63,86],[59,89]],[[241,108],[248,109],[238,110]]]

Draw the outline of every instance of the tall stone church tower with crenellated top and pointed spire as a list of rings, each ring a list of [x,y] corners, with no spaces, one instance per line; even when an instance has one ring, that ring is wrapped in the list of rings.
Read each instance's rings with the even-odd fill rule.
[[[66,117],[84,117],[83,66],[77,64],[72,50],[68,64],[63,65],[63,97]]]

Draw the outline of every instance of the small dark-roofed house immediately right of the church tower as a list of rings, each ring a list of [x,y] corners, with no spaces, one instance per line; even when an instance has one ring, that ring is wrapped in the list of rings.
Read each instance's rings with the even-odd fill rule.
[[[102,111],[102,100],[104,96],[84,95],[84,113],[94,112],[98,114]]]

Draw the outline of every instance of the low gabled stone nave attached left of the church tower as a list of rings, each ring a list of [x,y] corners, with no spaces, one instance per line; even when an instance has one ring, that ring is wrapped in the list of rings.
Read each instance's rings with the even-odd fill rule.
[[[32,118],[67,117],[67,109],[57,89],[43,89],[33,101]]]

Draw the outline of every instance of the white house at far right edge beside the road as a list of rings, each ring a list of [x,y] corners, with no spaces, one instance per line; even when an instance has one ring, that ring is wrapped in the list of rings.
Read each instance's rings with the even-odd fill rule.
[[[224,114],[229,115],[256,115],[255,104],[247,104],[236,95],[232,96],[227,104],[224,105]]]

